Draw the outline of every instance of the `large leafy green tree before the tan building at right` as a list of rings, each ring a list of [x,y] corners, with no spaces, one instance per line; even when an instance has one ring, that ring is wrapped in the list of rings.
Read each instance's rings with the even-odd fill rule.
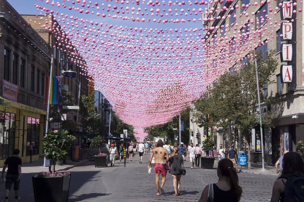
[[[270,97],[264,95],[268,85],[275,82],[270,79],[275,75],[278,66],[274,55],[275,51],[271,50],[265,53],[265,57],[261,52],[257,53],[255,57],[258,68],[259,94],[263,105],[274,104],[276,101],[272,94]],[[247,151],[249,169],[251,168],[251,130],[259,124],[255,58],[251,58],[247,64],[244,64],[240,71],[221,76],[215,88],[211,90],[211,94],[216,97],[216,107],[219,110],[219,118],[222,120],[220,124],[229,127],[231,121],[234,121],[234,125],[240,132],[239,147]],[[275,113],[268,112],[261,115],[263,124],[271,126]]]

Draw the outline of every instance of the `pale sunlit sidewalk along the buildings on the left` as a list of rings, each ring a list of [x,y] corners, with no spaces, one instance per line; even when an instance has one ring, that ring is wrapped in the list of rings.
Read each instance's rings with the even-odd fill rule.
[[[43,157],[39,157],[39,160],[32,161],[32,163],[23,163],[21,166],[21,174],[25,173],[39,173],[39,172],[48,172],[49,167],[43,167]],[[84,164],[88,162],[89,159],[82,159],[80,161],[71,161],[70,159],[66,160],[66,164],[62,164],[61,166],[55,166],[56,171],[67,171],[73,167],[79,166],[81,164]],[[1,169],[2,171],[2,169]],[[7,171],[7,168],[6,170]]]

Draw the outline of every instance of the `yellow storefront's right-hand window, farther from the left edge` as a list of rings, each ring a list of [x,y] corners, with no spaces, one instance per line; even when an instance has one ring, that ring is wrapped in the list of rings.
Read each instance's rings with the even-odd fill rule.
[[[26,156],[39,154],[40,119],[27,117]]]

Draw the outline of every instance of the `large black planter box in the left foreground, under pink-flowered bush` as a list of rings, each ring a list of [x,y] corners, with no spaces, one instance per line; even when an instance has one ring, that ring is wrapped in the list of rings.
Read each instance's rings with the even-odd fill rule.
[[[63,202],[69,198],[71,174],[61,177],[32,177],[35,202]]]

